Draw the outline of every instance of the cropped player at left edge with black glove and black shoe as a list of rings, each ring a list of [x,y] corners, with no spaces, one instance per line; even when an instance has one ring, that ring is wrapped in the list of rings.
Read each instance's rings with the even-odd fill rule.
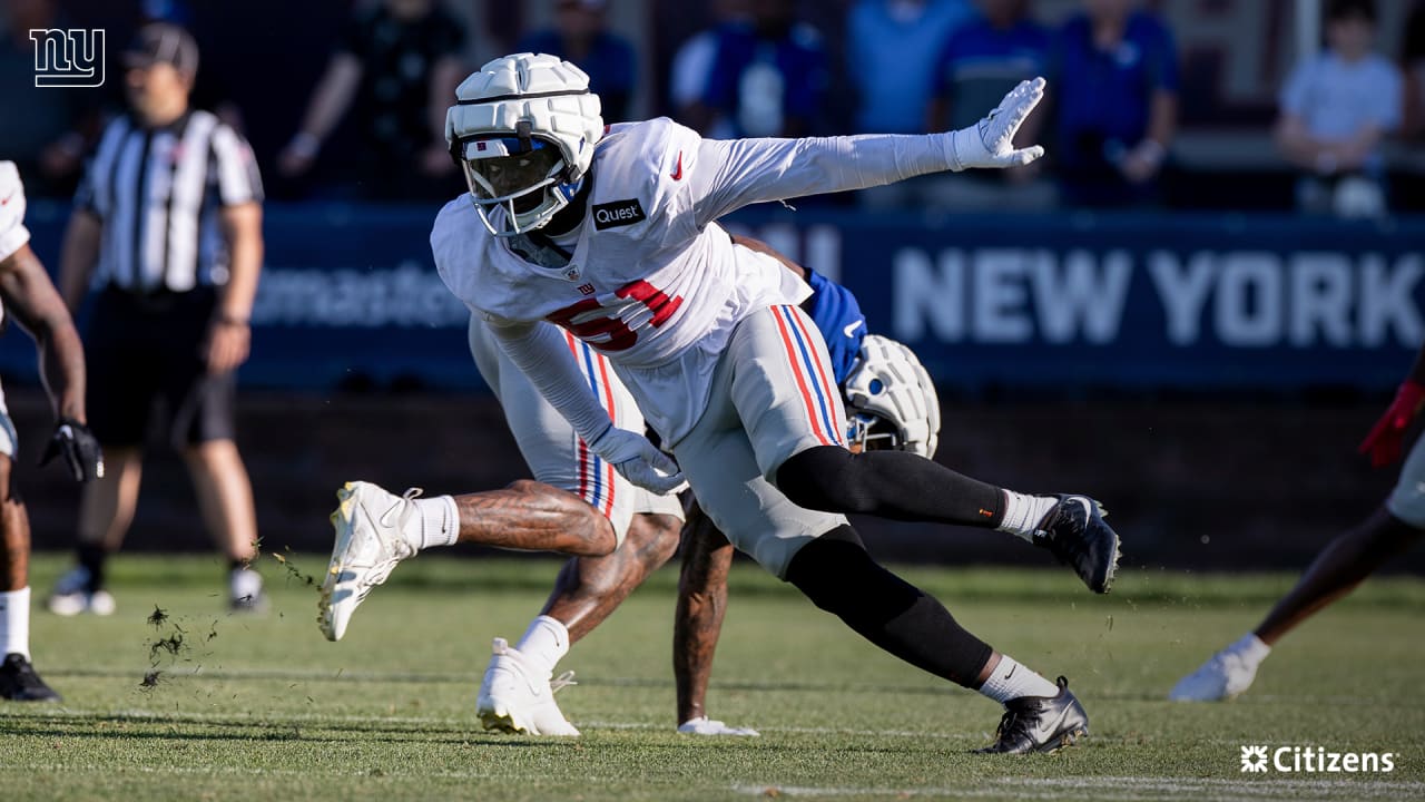
[[[98,441],[84,415],[84,347],[50,274],[30,250],[24,186],[13,161],[0,161],[0,315],[34,337],[40,378],[57,418],[41,465],[64,457],[70,475],[87,482],[104,475]],[[30,664],[30,518],[14,488],[14,424],[0,392],[0,699],[58,701]]]

